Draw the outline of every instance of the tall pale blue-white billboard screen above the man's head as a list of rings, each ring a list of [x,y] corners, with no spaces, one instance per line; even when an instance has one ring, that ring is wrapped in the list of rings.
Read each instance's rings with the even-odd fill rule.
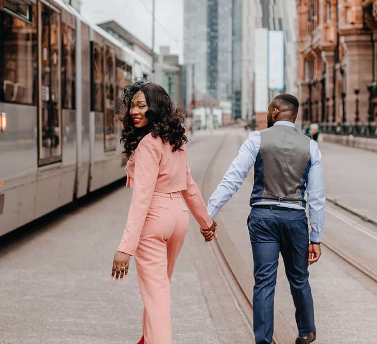
[[[283,31],[269,31],[269,89],[284,89]]]

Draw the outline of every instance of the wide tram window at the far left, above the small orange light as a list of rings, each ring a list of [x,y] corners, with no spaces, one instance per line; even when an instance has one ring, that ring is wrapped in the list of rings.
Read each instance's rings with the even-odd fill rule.
[[[4,1],[4,8],[10,2],[22,1]],[[30,23],[0,11],[0,102],[36,105],[36,6],[29,7]]]

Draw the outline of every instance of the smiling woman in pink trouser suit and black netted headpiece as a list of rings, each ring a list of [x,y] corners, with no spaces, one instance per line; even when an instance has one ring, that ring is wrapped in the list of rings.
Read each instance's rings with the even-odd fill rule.
[[[215,222],[208,215],[187,164],[183,107],[174,107],[159,85],[135,82],[125,90],[121,142],[129,158],[127,186],[133,188],[126,229],[112,264],[111,278],[127,276],[135,257],[144,302],[139,344],[171,343],[170,286],[174,263],[188,230],[188,208],[210,241]],[[123,111],[122,111],[123,109]]]

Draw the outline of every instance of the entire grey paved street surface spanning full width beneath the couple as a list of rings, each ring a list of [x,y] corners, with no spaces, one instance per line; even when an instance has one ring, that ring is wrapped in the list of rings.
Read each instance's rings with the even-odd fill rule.
[[[191,170],[198,185],[204,187],[205,198],[210,196],[244,138],[242,130],[211,135],[198,132],[188,144]],[[221,154],[212,161],[223,140]],[[352,161],[361,164],[363,158],[359,155],[370,154],[330,143],[321,143],[321,149],[327,192],[331,187],[339,190],[344,184],[334,171],[342,164],[339,155],[347,157],[352,153]],[[365,163],[371,161],[366,160]],[[211,162],[213,169],[206,175]],[[364,169],[359,169],[359,176],[358,170],[353,169],[346,179],[349,192],[352,185],[359,188],[359,184],[352,184],[354,180],[367,178],[365,171],[374,168],[373,162],[361,166]],[[246,217],[251,186],[252,172],[216,219],[220,223],[219,244],[250,290],[253,262]],[[368,185],[366,190],[373,187]],[[346,191],[342,195],[342,199],[348,198]],[[354,193],[352,197],[352,203],[368,208],[362,194]],[[127,220],[130,200],[131,190],[121,182],[95,194],[90,201],[59,210],[0,240],[0,343],[137,342],[142,301],[133,262],[125,282],[114,283],[110,279],[111,261]],[[324,239],[335,241],[361,264],[376,269],[376,227],[332,204],[327,209]],[[173,341],[253,343],[250,327],[210,245],[213,243],[202,240],[191,218],[171,283]],[[282,264],[275,297],[275,329],[280,344],[290,344],[296,337],[296,324]],[[316,343],[373,343],[376,283],[325,247],[323,257],[310,267],[310,272],[319,333]]]

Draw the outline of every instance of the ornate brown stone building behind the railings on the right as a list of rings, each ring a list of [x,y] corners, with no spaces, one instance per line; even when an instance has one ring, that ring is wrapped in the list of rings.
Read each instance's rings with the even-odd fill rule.
[[[331,131],[338,123],[351,130],[352,123],[368,123],[370,131],[377,108],[377,0],[297,0],[297,15],[299,120]]]

